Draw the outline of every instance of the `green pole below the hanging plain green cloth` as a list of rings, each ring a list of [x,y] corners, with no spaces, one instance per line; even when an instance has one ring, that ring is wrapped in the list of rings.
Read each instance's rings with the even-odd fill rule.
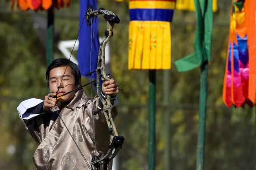
[[[207,72],[208,72],[208,62],[204,62],[201,65],[201,78],[200,78],[199,126],[198,126],[198,136],[197,136],[197,170],[204,169]]]

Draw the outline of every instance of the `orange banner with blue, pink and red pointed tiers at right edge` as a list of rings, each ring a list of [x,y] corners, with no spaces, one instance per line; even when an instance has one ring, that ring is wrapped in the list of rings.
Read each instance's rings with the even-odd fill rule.
[[[249,106],[255,104],[256,76],[254,75],[256,69],[252,66],[255,66],[253,62],[256,55],[254,33],[256,3],[249,1],[232,1],[228,55],[222,94],[222,99],[228,107],[232,104],[237,107],[244,106],[245,103]],[[248,5],[249,3],[250,5]]]

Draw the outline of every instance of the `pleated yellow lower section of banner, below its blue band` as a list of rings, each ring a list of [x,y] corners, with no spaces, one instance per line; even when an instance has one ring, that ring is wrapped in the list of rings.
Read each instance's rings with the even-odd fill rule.
[[[128,69],[170,69],[170,27],[166,21],[130,21]]]

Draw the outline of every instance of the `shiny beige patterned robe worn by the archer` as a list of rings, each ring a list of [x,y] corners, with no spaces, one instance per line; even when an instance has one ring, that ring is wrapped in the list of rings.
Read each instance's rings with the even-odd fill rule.
[[[102,109],[99,97],[91,102],[84,90],[78,90],[74,99],[62,108],[60,117],[56,106],[45,114],[23,120],[28,132],[40,143],[33,156],[37,170],[90,170],[91,165],[87,165],[84,158],[90,164],[95,153],[99,158],[106,154],[110,135],[103,112],[92,116],[92,110],[96,109]],[[115,107],[112,110],[115,117]],[[110,162],[110,169],[111,166]]]

